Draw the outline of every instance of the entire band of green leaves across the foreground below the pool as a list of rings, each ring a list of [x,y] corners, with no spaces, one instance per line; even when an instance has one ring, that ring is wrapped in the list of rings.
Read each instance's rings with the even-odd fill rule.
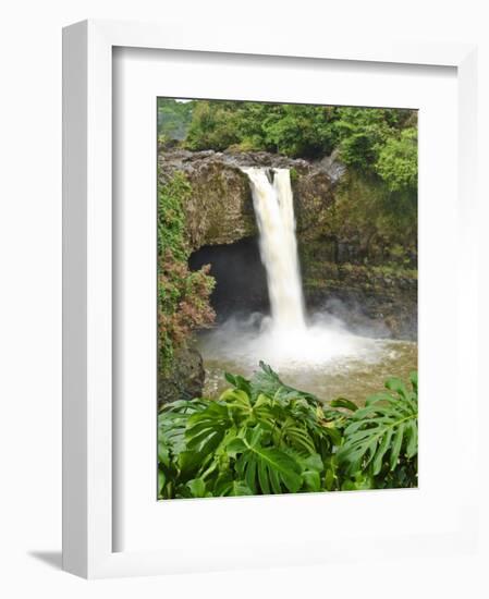
[[[227,375],[218,400],[158,415],[160,499],[412,487],[417,484],[417,382],[390,379],[357,408],[325,406],[267,365]]]

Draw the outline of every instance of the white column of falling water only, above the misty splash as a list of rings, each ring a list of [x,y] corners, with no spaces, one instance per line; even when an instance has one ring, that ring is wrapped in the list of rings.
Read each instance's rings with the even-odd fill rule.
[[[272,326],[304,330],[304,298],[295,237],[294,203],[289,169],[243,169],[249,179],[267,272]]]

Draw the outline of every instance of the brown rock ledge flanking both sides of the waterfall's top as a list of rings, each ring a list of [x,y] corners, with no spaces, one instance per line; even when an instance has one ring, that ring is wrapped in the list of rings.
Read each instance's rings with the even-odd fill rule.
[[[184,172],[192,195],[184,205],[186,232],[193,250],[222,245],[257,234],[246,167],[294,169],[292,178],[297,232],[320,225],[325,209],[333,201],[333,187],[345,168],[335,156],[320,161],[288,158],[266,151],[190,151],[160,148],[158,175],[164,183]]]

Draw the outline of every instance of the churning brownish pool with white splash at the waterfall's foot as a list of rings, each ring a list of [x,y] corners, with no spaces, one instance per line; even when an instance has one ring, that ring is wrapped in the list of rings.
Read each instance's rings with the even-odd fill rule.
[[[249,377],[259,359],[270,364],[283,382],[323,401],[344,396],[362,403],[382,390],[387,378],[406,379],[417,369],[415,342],[354,335],[326,315],[305,335],[277,335],[267,330],[267,320],[258,315],[231,319],[200,335],[207,396],[229,387],[225,371]]]

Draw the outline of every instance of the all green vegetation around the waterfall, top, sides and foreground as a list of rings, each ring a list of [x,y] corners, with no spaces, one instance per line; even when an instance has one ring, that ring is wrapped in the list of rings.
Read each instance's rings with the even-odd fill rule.
[[[158,143],[160,158],[171,149],[266,151],[309,162],[332,156],[346,167],[334,201],[325,204],[320,234],[298,239],[306,284],[322,285],[328,260],[355,293],[367,294],[370,278],[398,277],[403,285],[416,279],[416,111],[160,98]],[[179,378],[181,350],[216,318],[209,267],[188,267],[185,206],[194,190],[185,172],[160,163],[159,392]],[[293,185],[299,170],[291,168]],[[327,244],[333,258],[322,256]],[[176,401],[159,398],[159,499],[417,486],[415,372],[408,382],[389,378],[360,403],[325,402],[262,363],[249,379],[225,380],[219,396],[200,396],[200,386],[195,396],[178,390]]]

